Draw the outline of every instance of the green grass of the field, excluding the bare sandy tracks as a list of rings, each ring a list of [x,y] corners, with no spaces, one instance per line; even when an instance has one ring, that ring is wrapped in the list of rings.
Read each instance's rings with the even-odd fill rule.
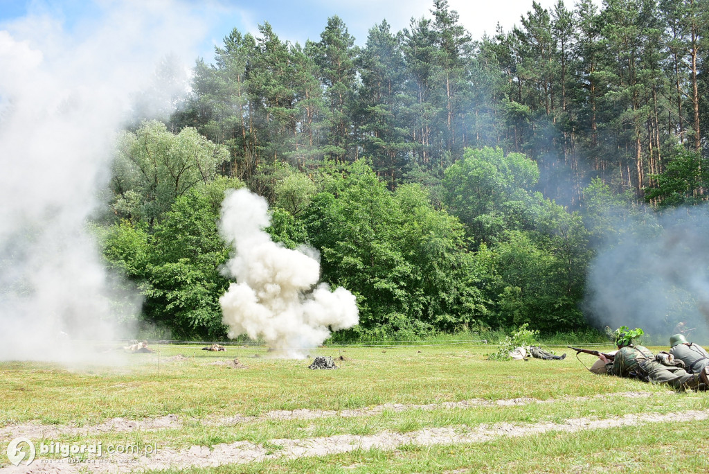
[[[571,354],[560,361],[501,362],[486,360],[486,353],[495,351],[495,346],[337,346],[318,348],[311,351],[310,358],[292,360],[269,358],[267,352],[255,347],[230,347],[226,353],[209,353],[200,348],[161,346],[160,373],[157,354],[128,355],[124,365],[114,367],[1,363],[0,394],[4,403],[0,409],[0,424],[9,429],[13,424],[28,421],[91,426],[113,417],[140,420],[177,414],[182,423],[179,427],[60,434],[52,436],[52,441],[102,441],[141,446],[157,443],[170,448],[250,441],[276,452],[279,446],[271,441],[277,439],[342,434],[367,436],[382,432],[406,434],[440,427],[468,429],[499,423],[563,423],[566,419],[581,417],[605,419],[625,414],[709,409],[709,397],[705,393],[675,394],[664,386],[593,375]],[[169,360],[178,354],[187,359]],[[307,366],[315,355],[333,356],[340,368],[309,370]],[[340,355],[344,360],[339,359]],[[235,357],[247,368],[213,365]],[[591,356],[581,355],[581,358],[588,365],[594,360]],[[644,392],[647,396],[621,396],[625,392]],[[441,404],[520,397],[537,402],[464,408],[408,407],[357,417],[267,417],[274,410],[339,412],[382,404]],[[219,424],[220,418],[236,415],[252,418],[233,426]],[[290,461],[195,469],[194,472],[556,473],[619,469],[656,472],[651,468],[654,462],[688,472],[706,470],[705,456],[689,456],[688,447],[684,445],[706,448],[703,433],[707,422],[683,421],[676,425],[655,423],[576,433],[555,431],[520,438],[502,436],[467,446],[411,445],[393,451],[357,450]],[[0,453],[4,453],[8,441],[0,443]],[[688,457],[677,453],[687,453]]]

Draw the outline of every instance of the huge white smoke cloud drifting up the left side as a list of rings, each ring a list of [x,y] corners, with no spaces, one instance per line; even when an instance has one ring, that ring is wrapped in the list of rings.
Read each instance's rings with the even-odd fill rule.
[[[86,4],[71,24],[30,3],[0,25],[0,359],[73,360],[140,303],[116,294],[88,224],[116,131],[160,60],[191,62],[205,28],[167,1]]]

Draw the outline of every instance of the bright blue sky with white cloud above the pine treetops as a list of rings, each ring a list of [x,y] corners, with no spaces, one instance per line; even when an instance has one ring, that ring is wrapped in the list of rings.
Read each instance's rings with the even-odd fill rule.
[[[551,9],[556,0],[539,0]],[[165,4],[165,0],[145,0],[147,4]],[[0,0],[0,30],[30,13],[45,13],[61,22],[67,30],[101,15],[107,7],[125,3],[116,0]],[[208,28],[199,45],[199,55],[211,60],[213,46],[221,44],[233,28],[257,33],[257,26],[268,21],[281,40],[304,43],[318,40],[330,16],[340,16],[357,44],[364,45],[367,31],[386,19],[393,31],[406,28],[412,17],[430,16],[432,0],[184,0],[195,16],[206,19]],[[600,3],[600,0],[599,0]],[[460,15],[460,22],[474,38],[494,33],[499,22],[506,30],[519,23],[520,16],[532,8],[532,0],[471,1],[449,0],[450,9]],[[566,0],[572,8],[574,0]]]

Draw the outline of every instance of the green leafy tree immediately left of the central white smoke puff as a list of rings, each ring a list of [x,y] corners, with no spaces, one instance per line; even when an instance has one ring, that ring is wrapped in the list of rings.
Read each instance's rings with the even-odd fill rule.
[[[220,274],[229,249],[217,231],[224,191],[238,180],[216,180],[175,199],[155,231],[121,221],[104,241],[104,255],[125,272],[145,302],[143,319],[179,338],[223,338],[218,298],[228,287]]]

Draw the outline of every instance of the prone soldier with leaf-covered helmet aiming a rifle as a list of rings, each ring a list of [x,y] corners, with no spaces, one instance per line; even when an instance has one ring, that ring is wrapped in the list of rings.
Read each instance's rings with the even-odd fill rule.
[[[707,390],[709,387],[709,367],[699,373],[691,374],[683,368],[680,360],[674,360],[668,353],[654,355],[643,346],[635,346],[634,338],[642,336],[643,331],[635,328],[632,331],[626,326],[615,330],[615,346],[618,352],[610,360],[603,353],[598,358],[605,363],[608,375],[631,377],[652,383],[666,383],[675,390]]]

